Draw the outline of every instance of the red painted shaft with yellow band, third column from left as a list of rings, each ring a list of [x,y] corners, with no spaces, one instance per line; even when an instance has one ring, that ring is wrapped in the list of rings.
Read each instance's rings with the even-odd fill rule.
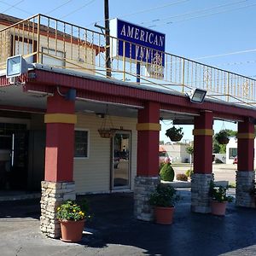
[[[195,117],[194,134],[194,172],[212,173],[212,112],[201,112]]]

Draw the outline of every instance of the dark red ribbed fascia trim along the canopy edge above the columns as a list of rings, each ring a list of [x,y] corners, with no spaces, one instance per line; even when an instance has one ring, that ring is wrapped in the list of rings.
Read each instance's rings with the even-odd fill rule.
[[[143,90],[125,86],[124,84],[113,84],[113,81],[98,81],[92,79],[84,79],[68,74],[47,72],[44,70],[34,70],[37,79],[32,83],[44,84],[49,86],[73,87],[81,93],[81,95],[89,96],[93,99],[96,96],[101,97],[104,102],[112,102],[114,97],[118,97],[119,103],[129,104],[135,100],[138,102],[160,102],[160,109],[170,111],[178,111],[180,113],[197,113],[201,110],[210,110],[214,116],[225,119],[243,119],[243,117],[251,116],[256,118],[256,112],[253,109],[238,108],[236,106],[225,105],[215,102],[204,102],[203,104],[195,104],[189,102],[184,96],[176,96],[157,92],[152,90]],[[38,86],[38,85],[37,85]],[[93,96],[94,95],[94,96]],[[131,100],[132,99],[132,100]],[[141,104],[140,104],[141,105]]]

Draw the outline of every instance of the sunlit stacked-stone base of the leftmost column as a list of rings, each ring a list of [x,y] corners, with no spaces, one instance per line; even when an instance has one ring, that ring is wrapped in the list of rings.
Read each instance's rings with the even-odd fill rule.
[[[44,236],[58,238],[61,236],[60,223],[56,218],[56,208],[62,201],[75,200],[74,182],[42,181],[40,230]]]

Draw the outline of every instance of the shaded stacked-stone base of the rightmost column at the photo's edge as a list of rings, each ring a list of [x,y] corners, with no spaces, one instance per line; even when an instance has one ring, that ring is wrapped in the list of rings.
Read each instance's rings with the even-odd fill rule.
[[[254,197],[250,195],[254,180],[255,172],[236,171],[236,207],[255,207]]]

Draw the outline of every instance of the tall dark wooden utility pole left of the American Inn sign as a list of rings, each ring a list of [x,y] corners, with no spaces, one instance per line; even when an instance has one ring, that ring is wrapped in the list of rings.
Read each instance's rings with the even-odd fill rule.
[[[107,78],[111,78],[108,0],[104,0],[104,13],[105,13],[105,36],[106,36],[106,68],[107,68],[106,75],[107,75]]]

